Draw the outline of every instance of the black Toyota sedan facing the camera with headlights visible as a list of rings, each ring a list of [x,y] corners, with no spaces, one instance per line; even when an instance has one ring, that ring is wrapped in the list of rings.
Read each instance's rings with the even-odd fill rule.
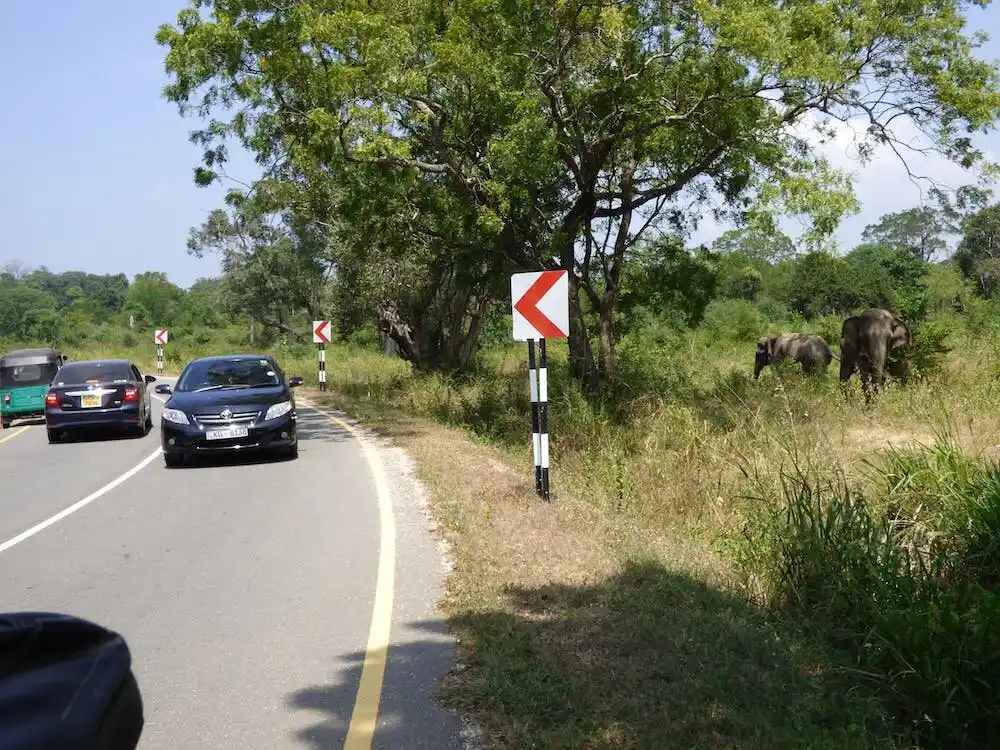
[[[230,354],[188,362],[160,419],[163,460],[180,466],[197,455],[269,451],[296,458],[295,397],[302,378],[286,378],[266,354]]]

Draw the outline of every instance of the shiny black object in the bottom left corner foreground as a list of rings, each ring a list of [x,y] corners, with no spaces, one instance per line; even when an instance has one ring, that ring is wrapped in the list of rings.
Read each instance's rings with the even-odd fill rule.
[[[143,725],[124,638],[71,615],[0,614],[0,748],[134,750]]]

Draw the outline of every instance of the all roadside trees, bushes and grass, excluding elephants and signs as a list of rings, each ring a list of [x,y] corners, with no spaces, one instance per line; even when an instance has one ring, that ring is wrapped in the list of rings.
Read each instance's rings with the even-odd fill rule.
[[[310,396],[420,462],[456,562],[443,699],[491,747],[994,744],[1000,204],[975,137],[1000,75],[968,4],[336,5],[198,0],[157,34],[194,180],[232,188],[188,242],[220,278],[13,264],[0,344],[152,370],[168,328],[170,370],[266,350],[315,385],[309,321],[334,321]],[[845,134],[861,169],[935,153],[968,184],[838,248],[860,206],[821,144]],[[229,174],[241,148],[259,176]],[[692,247],[709,215],[735,228]],[[512,272],[555,268],[544,503],[507,311]],[[913,335],[873,404],[836,362],[753,379],[759,338],[837,351],[869,307]]]

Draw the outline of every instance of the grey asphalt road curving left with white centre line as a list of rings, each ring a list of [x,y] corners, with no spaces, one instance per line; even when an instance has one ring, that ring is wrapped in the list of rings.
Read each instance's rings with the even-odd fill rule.
[[[140,748],[462,748],[432,700],[440,556],[391,456],[300,404],[298,460],[171,470],[153,403],[143,438],[0,433],[0,610],[121,633]]]

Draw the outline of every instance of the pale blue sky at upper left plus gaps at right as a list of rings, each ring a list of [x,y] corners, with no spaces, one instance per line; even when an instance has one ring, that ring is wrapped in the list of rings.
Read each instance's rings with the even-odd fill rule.
[[[0,7],[0,263],[129,277],[165,271],[185,287],[217,273],[214,259],[189,256],[185,242],[189,228],[221,204],[224,189],[194,186],[200,153],[187,134],[195,122],[160,95],[164,50],[153,37],[183,5],[63,0]],[[970,21],[1000,29],[1000,9],[975,9]],[[1000,42],[991,40],[984,54],[1000,58]],[[826,151],[850,167],[847,135]],[[1000,154],[1000,136],[982,145]],[[251,177],[252,164],[240,161],[243,171],[237,163],[234,176]],[[916,167],[953,187],[971,181],[941,160]],[[920,200],[902,168],[884,156],[859,174],[856,190],[863,212],[838,232],[848,247],[865,224]],[[694,240],[711,241],[724,228],[706,223]]]

